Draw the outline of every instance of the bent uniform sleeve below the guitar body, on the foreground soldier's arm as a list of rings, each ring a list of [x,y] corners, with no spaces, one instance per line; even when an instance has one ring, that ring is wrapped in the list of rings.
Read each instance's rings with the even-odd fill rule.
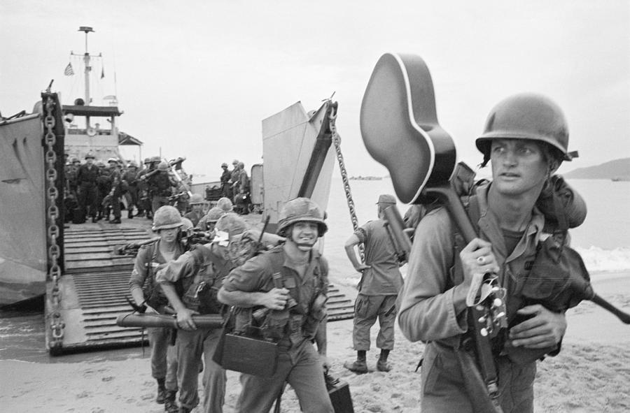
[[[460,286],[447,289],[454,263],[454,233],[444,208],[419,222],[409,256],[407,278],[398,296],[398,324],[411,341],[440,340],[465,333],[465,302]]]

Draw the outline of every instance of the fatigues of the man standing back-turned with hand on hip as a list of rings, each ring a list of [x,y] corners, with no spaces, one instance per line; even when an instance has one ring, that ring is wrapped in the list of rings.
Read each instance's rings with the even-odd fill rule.
[[[365,245],[365,265],[354,306],[354,349],[370,349],[370,328],[379,319],[377,347],[391,350],[394,345],[395,301],[402,287],[402,275],[395,249],[382,219],[363,224],[355,235]]]

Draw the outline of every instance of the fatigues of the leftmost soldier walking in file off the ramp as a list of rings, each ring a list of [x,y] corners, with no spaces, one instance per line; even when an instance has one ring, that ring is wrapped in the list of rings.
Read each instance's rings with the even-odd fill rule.
[[[174,258],[182,253],[181,246],[175,249]],[[142,247],[132,271],[129,289],[142,289],[146,303],[160,313],[168,304],[166,296],[155,280],[155,273],[166,260],[160,254],[160,241]],[[167,390],[177,391],[177,358],[174,346],[169,346],[171,328],[147,328],[151,345],[151,375],[155,379],[165,378]]]

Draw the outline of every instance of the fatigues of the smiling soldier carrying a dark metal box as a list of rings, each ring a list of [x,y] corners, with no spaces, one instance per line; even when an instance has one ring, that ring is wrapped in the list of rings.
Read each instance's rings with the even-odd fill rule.
[[[333,412],[322,363],[311,344],[319,322],[325,317],[325,305],[316,305],[315,302],[318,296],[325,296],[328,289],[328,264],[318,252],[313,251],[304,276],[300,277],[283,247],[279,246],[232,270],[223,288],[226,291],[270,291],[277,283],[274,275],[276,280],[281,278],[283,287],[290,291],[297,305],[291,310],[268,312],[263,323],[267,328],[262,333],[278,341],[276,372],[272,377],[241,375],[243,389],[237,412],[269,412],[285,382],[295,390],[302,411]],[[246,328],[250,314],[251,309],[239,309],[237,330]]]

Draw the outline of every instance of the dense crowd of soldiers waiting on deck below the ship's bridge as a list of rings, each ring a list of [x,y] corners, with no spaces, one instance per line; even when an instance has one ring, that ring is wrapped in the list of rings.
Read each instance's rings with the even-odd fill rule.
[[[66,221],[80,224],[91,218],[92,222],[104,219],[120,224],[123,208],[127,218],[152,219],[162,205],[175,205],[185,214],[190,204],[190,177],[181,170],[182,161],[149,157],[139,168],[134,161],[117,158],[108,159],[107,164],[95,161],[90,153],[83,164],[76,157],[66,160]]]

